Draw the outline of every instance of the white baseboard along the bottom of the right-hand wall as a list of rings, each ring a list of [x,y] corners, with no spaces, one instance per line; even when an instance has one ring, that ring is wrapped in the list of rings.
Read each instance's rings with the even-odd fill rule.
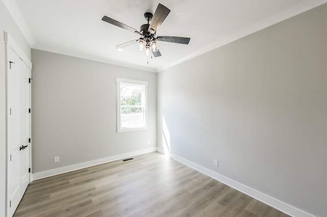
[[[157,147],[157,151],[162,153],[162,154],[165,154],[165,150],[162,149],[162,148]],[[167,153],[166,153],[166,155],[167,155]],[[241,184],[241,183],[239,183],[237,181],[234,181],[234,180],[232,180],[230,178],[227,178],[227,177],[225,177],[223,175],[220,175],[220,174],[218,174],[218,173],[216,173],[216,172],[214,172],[212,170],[209,170],[209,169],[207,169],[205,167],[202,167],[202,166],[200,166],[198,164],[195,164],[194,162],[192,162],[190,160],[187,160],[185,158],[182,158],[182,157],[180,157],[178,155],[175,155],[175,154],[172,154],[172,153],[168,153],[168,155],[171,158],[181,162],[182,164],[184,164],[186,166],[189,166],[189,167],[191,167],[191,168],[193,168],[193,169],[195,169],[195,170],[197,170],[197,171],[199,171],[199,172],[201,172],[201,173],[203,173],[203,174],[205,174],[205,175],[207,175],[209,177],[212,177],[212,178],[214,178],[214,179],[216,179],[216,180],[218,180],[218,181],[220,181],[220,182],[222,182],[222,183],[224,183],[224,184],[226,184],[226,185],[228,185],[228,186],[230,186],[232,188],[235,188],[238,191],[240,191],[240,192],[242,192],[242,193],[244,193],[244,194],[246,194],[246,195],[248,195],[248,196],[250,196],[252,198],[255,198],[256,200],[259,200],[259,201],[261,201],[261,202],[263,202],[263,203],[265,203],[265,204],[267,204],[269,206],[272,206],[275,209],[278,209],[278,210],[280,210],[280,211],[282,211],[282,212],[284,212],[284,213],[286,213],[288,215],[296,216],[296,217],[313,217],[313,215],[311,215],[311,214],[309,214],[309,213],[307,213],[307,212],[305,212],[303,210],[300,210],[300,209],[298,209],[296,207],[293,207],[293,206],[291,206],[289,204],[286,204],[286,203],[284,203],[284,202],[282,202],[280,200],[272,198],[269,195],[266,195],[264,193],[256,191],[255,189],[253,189],[251,187],[248,187],[248,186],[246,186],[244,184]]]

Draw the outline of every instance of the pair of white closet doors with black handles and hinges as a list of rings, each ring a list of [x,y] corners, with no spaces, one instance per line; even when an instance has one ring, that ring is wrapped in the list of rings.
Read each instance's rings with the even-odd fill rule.
[[[7,216],[12,216],[30,183],[31,70],[10,47],[7,53]]]

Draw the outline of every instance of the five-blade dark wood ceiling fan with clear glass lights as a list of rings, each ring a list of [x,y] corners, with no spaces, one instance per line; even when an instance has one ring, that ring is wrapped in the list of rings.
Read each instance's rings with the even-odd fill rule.
[[[148,23],[141,25],[139,31],[107,16],[102,17],[102,20],[125,30],[134,32],[140,36],[136,40],[117,45],[116,49],[122,50],[126,46],[138,43],[141,50],[143,50],[143,48],[146,49],[147,56],[149,56],[151,50],[154,57],[160,57],[161,53],[157,47],[157,41],[165,41],[178,44],[189,44],[190,42],[190,38],[175,36],[156,36],[156,31],[159,29],[160,25],[162,24],[162,22],[164,22],[169,13],[170,10],[166,6],[159,4],[154,14],[150,12],[146,12],[144,14],[144,17],[148,21]]]

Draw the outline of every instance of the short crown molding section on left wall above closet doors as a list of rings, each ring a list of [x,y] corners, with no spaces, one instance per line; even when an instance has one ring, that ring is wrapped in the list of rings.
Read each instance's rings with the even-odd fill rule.
[[[26,24],[24,17],[22,16],[22,14],[16,4],[16,1],[14,1],[14,0],[2,0],[2,1],[5,4],[5,6],[7,7],[12,18],[17,23],[19,30],[24,35],[24,37],[27,40],[27,42],[29,43],[30,47],[33,47],[33,45],[35,44],[35,40],[33,38],[33,35],[31,33],[30,29],[28,28],[28,25]]]

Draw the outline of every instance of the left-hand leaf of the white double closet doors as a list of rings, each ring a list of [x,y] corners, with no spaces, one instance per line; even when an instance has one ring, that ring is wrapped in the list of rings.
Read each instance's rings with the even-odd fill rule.
[[[7,92],[7,120],[8,120],[8,182],[7,182],[7,215],[12,216],[21,195],[21,158],[20,158],[20,60],[18,56],[8,49],[8,92]]]

